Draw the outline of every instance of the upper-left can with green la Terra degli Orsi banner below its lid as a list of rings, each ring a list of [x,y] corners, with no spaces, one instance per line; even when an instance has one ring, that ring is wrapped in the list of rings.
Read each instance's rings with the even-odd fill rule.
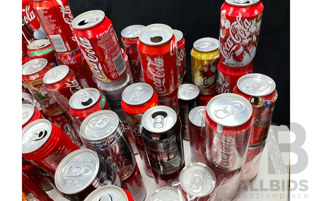
[[[34,42],[31,42],[27,45],[27,55],[30,60],[45,58],[48,60],[48,63],[51,64],[52,68],[57,66],[57,58],[51,43],[48,39],[41,39]]]

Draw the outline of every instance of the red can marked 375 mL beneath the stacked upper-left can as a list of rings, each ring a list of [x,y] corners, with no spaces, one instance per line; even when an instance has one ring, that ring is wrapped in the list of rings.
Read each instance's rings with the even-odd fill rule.
[[[97,88],[92,71],[85,60],[80,48],[66,53],[57,53],[57,58],[61,64],[72,69],[84,88]]]

